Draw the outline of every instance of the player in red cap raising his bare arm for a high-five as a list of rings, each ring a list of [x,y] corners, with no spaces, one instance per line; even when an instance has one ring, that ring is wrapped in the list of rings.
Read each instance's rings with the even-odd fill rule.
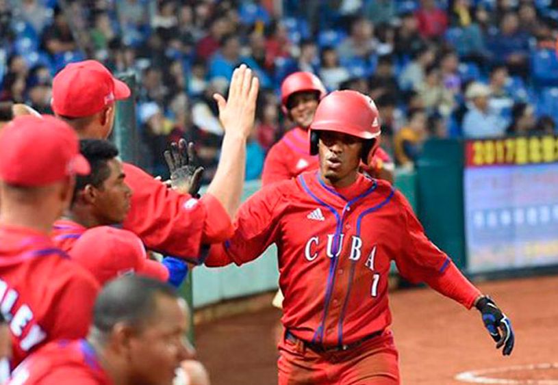
[[[134,194],[123,228],[150,250],[199,263],[201,243],[227,239],[240,204],[246,140],[254,124],[257,78],[246,66],[233,73],[228,100],[216,94],[225,135],[218,170],[201,199],[179,194],[129,163],[123,163]],[[68,64],[53,79],[52,109],[82,139],[105,139],[114,122],[114,102],[127,98],[125,83],[94,60]],[[211,215],[210,215],[211,213]]]

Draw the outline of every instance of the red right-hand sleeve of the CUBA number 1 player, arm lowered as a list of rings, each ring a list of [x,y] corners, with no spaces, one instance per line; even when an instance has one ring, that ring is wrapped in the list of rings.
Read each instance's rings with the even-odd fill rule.
[[[396,191],[396,198],[401,203],[403,217],[403,252],[396,257],[401,275],[411,282],[426,282],[435,291],[471,308],[480,295],[479,289],[428,239],[403,194]]]

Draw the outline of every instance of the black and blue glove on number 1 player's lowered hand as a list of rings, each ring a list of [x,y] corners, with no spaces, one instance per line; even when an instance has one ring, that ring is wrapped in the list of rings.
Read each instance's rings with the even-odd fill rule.
[[[516,342],[509,318],[502,313],[502,310],[487,295],[481,297],[475,307],[481,312],[485,328],[490,333],[490,336],[492,336],[492,339],[496,341],[496,349],[504,347],[502,354],[509,356],[513,350],[513,344]]]

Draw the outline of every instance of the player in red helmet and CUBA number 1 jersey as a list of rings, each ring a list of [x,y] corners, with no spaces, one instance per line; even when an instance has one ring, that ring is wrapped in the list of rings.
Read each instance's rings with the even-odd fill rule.
[[[286,330],[279,384],[400,382],[388,308],[391,261],[411,282],[477,306],[497,347],[511,353],[509,319],[429,241],[403,194],[359,173],[379,135],[368,96],[326,96],[310,127],[320,169],[255,193],[239,209],[234,236],[213,245],[205,262],[241,265],[277,245]]]

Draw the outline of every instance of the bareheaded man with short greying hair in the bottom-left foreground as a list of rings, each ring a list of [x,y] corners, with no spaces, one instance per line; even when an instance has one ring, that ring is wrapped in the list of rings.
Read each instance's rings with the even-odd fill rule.
[[[186,332],[188,307],[172,288],[144,277],[118,278],[97,297],[86,339],[50,343],[8,384],[170,385],[194,352]]]

